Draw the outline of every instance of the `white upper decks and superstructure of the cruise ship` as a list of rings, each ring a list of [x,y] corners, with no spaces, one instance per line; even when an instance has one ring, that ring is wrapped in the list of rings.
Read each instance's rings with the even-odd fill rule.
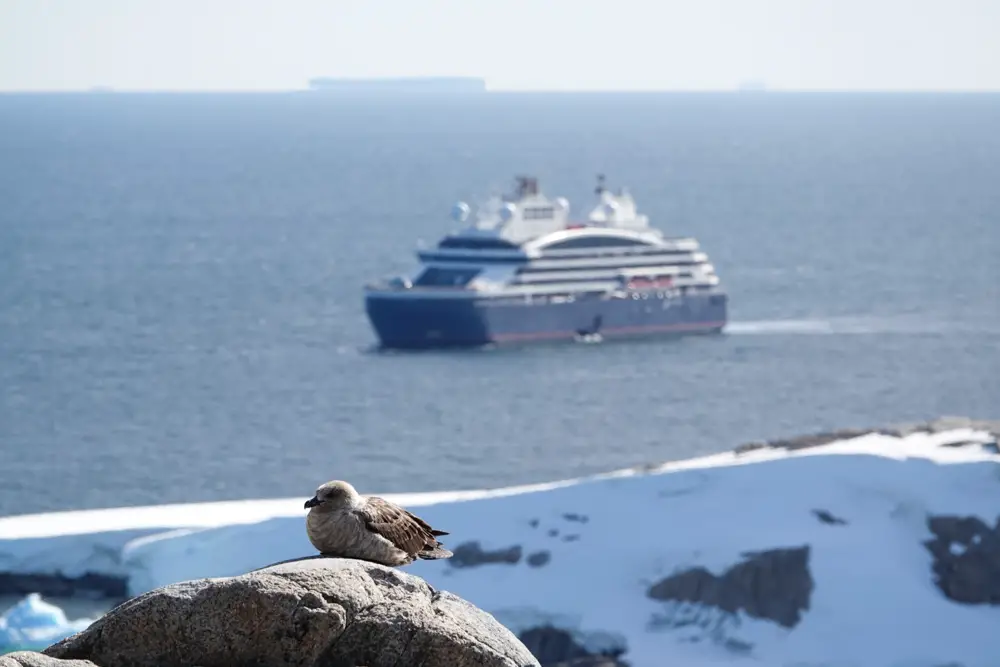
[[[582,221],[564,197],[550,198],[530,177],[472,214],[452,208],[466,226],[418,256],[421,270],[399,286],[496,294],[611,291],[642,286],[712,290],[715,269],[693,238],[667,238],[638,212],[627,189],[612,192],[599,177],[598,201]]]

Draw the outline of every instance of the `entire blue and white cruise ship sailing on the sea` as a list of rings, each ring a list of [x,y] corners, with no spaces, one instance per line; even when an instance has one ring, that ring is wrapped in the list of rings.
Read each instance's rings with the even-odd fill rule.
[[[728,297],[694,238],[667,237],[627,189],[598,177],[597,202],[570,216],[533,177],[496,195],[461,231],[420,249],[418,270],[365,288],[365,310],[383,348],[474,347],[717,333]]]

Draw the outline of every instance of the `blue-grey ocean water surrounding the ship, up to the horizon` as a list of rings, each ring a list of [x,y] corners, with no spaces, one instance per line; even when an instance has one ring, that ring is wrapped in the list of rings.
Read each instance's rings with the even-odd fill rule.
[[[717,337],[377,353],[515,174],[696,236]],[[0,96],[0,515],[538,482],[1000,414],[1000,96]]]

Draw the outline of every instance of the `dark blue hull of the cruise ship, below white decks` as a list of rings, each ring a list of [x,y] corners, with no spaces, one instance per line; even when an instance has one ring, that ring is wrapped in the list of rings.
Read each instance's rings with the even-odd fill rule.
[[[383,347],[474,347],[544,340],[715,333],[726,324],[723,293],[675,295],[647,291],[572,300],[443,296],[372,291],[365,309]]]

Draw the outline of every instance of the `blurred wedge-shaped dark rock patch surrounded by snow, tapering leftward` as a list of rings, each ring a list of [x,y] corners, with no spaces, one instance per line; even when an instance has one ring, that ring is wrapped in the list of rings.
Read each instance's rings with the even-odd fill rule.
[[[809,609],[814,588],[809,546],[741,554],[747,560],[722,576],[702,567],[673,574],[650,587],[654,600],[695,602],[794,627]]]

